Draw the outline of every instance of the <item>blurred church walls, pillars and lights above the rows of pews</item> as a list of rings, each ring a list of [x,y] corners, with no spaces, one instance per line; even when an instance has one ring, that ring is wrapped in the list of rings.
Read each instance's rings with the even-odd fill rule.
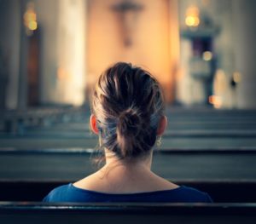
[[[0,0],[0,107],[82,106],[117,61],[159,79],[166,103],[255,108],[249,0]]]

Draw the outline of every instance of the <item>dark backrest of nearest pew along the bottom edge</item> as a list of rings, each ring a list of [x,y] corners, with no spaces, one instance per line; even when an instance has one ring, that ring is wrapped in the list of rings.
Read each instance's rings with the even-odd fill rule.
[[[254,224],[256,204],[42,204],[0,203],[8,224],[207,223]]]

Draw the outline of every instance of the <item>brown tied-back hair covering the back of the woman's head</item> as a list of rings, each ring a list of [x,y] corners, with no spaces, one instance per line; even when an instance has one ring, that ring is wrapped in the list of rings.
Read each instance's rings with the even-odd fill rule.
[[[91,99],[102,146],[120,159],[148,154],[156,141],[164,102],[149,72],[119,62],[103,72]]]

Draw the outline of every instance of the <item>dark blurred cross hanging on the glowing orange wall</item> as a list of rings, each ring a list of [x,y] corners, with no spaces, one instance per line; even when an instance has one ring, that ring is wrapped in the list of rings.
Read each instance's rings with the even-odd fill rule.
[[[119,13],[121,32],[124,35],[125,46],[131,46],[131,34],[134,30],[134,20],[137,18],[137,12],[143,10],[143,5],[133,3],[131,0],[124,0],[121,3],[114,4],[111,9]]]

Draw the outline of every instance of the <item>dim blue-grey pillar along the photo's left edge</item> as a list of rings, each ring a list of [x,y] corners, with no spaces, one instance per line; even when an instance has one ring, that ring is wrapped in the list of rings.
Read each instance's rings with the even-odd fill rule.
[[[4,72],[1,86],[3,107],[16,109],[20,71],[20,3],[16,0],[0,1],[0,51]],[[4,77],[3,77],[4,76]]]

